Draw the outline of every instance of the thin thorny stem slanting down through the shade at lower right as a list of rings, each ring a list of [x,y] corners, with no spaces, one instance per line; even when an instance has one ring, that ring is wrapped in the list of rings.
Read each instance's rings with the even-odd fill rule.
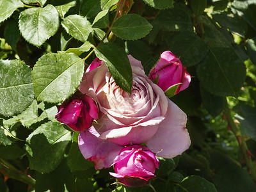
[[[244,137],[241,136],[240,130],[237,127],[237,125],[235,124],[235,122],[234,122],[234,120],[232,118],[232,115],[230,113],[230,108],[228,107],[227,98],[224,99],[224,113],[226,115],[228,125],[230,126],[230,130],[236,136],[236,139],[237,139],[239,147],[240,147],[240,149],[242,151],[242,154],[243,154],[243,157],[244,157],[245,164],[247,166],[248,172],[252,176],[253,180],[256,180],[256,172],[255,172],[255,168],[254,168],[253,163],[252,163],[252,158],[251,158],[250,152],[248,150],[248,147],[246,145]]]

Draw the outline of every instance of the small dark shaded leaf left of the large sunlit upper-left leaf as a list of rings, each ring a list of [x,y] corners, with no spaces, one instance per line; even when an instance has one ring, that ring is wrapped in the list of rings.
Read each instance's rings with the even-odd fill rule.
[[[12,49],[17,52],[16,45],[20,38],[19,24],[17,20],[10,20],[4,28],[4,38],[11,45]]]

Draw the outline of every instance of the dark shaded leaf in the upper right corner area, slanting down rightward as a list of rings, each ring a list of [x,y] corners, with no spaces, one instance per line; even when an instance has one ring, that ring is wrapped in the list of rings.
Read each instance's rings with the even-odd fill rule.
[[[244,19],[237,14],[218,12],[212,14],[212,18],[216,20],[221,27],[228,28],[232,33],[244,37],[247,32],[247,24]]]

